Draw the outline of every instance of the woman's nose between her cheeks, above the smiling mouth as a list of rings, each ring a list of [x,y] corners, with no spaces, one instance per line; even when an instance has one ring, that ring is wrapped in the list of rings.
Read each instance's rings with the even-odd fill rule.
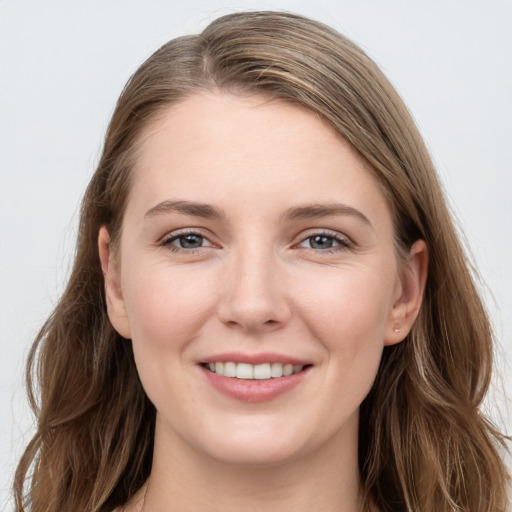
[[[274,255],[258,251],[233,256],[222,276],[218,315],[228,327],[256,334],[288,322],[291,307]]]

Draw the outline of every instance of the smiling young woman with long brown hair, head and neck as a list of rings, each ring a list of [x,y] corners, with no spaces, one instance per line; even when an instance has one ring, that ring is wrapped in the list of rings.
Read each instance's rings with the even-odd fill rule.
[[[119,99],[29,359],[17,510],[503,511],[492,350],[376,65],[300,16],[222,17]]]

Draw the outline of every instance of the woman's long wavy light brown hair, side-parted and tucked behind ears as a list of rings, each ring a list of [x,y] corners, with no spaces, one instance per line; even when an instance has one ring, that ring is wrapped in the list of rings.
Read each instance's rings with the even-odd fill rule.
[[[16,511],[107,511],[151,471],[156,411],[131,344],[107,316],[97,250],[119,238],[137,144],[195,93],[263,94],[315,112],[367,161],[387,196],[397,254],[429,251],[423,304],[404,342],[384,349],[360,410],[365,506],[504,511],[506,436],[480,411],[493,333],[428,151],[402,100],[354,43],[310,19],[244,12],[157,50],[125,86],[87,188],[74,266],[29,355],[37,431],[15,476]]]

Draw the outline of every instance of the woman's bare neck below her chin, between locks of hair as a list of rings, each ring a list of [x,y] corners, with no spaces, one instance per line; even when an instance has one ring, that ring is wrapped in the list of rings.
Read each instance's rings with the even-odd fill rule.
[[[205,457],[161,435],[157,422],[145,512],[259,512],[262,505],[266,512],[360,512],[357,428],[350,438],[340,434],[314,453],[248,466]]]

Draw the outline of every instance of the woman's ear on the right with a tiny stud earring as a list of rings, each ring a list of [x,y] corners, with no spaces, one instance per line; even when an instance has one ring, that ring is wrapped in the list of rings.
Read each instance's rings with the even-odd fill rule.
[[[390,313],[384,345],[394,345],[405,339],[420,311],[428,274],[428,249],[417,240],[400,269],[395,302]]]

